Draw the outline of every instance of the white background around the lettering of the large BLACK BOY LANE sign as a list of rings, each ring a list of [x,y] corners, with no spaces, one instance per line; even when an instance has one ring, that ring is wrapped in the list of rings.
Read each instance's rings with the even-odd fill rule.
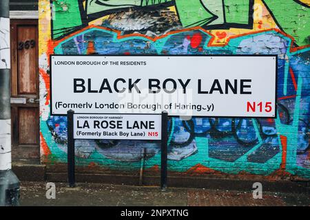
[[[161,113],[165,110],[169,115],[195,115],[213,117],[276,117],[276,56],[51,56],[51,114],[65,115],[72,109],[76,113]],[[98,61],[100,63],[111,61],[145,61],[147,65],[59,65],[63,61]],[[56,65],[58,63],[58,65]],[[74,93],[73,79],[83,78],[85,85],[87,79],[92,82],[92,89],[99,89],[104,78],[113,83],[116,78],[123,78],[126,83],[120,83],[118,87],[128,88],[128,80],[132,78],[138,82],[141,94],[128,90],[118,94],[112,93]],[[156,78],[161,81],[161,92],[148,94],[148,80]],[[167,78],[176,80],[178,96],[172,100],[171,96],[163,91],[163,81]],[[178,79],[186,82],[186,96],[182,94],[182,87]],[[225,80],[232,83],[238,80],[238,94],[198,94],[198,79],[202,80],[203,91],[208,91],[214,79],[221,82],[225,91]],[[240,94],[240,79],[251,79],[251,94]],[[224,83],[223,83],[224,82]],[[172,87],[172,84],[167,84]],[[143,90],[145,89],[145,90]],[[155,88],[154,88],[155,89]],[[181,91],[181,92],[179,92]],[[127,96],[126,96],[127,95]],[[124,98],[125,97],[125,98]],[[156,101],[154,101],[156,100]],[[159,100],[159,101],[158,101]],[[154,104],[160,103],[161,109],[128,109],[127,103]],[[247,111],[247,102],[256,103],[256,111]],[[257,106],[262,104],[262,111]],[[265,111],[265,105],[269,102],[271,111]],[[271,102],[271,104],[270,104]],[[62,105],[58,105],[61,103]],[[168,104],[171,103],[171,109]],[[63,104],[68,104],[63,106]],[[72,107],[70,104],[80,104],[80,107]],[[124,104],[125,109],[99,107],[100,104]],[[166,107],[164,109],[164,106]],[[177,104],[201,105],[205,109],[180,109]],[[269,109],[270,110],[270,109]]]

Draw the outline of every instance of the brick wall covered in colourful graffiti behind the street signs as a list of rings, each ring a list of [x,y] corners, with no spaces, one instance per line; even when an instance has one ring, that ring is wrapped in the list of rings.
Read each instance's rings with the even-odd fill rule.
[[[171,119],[168,166],[187,173],[309,179],[309,5],[309,0],[40,0],[41,162],[67,157],[67,119],[50,116],[50,54],[278,54],[278,118]],[[76,141],[77,164],[136,170],[141,148],[146,168],[158,168],[160,146],[141,141]]]

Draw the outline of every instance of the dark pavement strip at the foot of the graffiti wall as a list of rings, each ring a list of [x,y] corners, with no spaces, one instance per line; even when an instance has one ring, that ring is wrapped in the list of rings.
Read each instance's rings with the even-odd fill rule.
[[[55,183],[55,199],[47,199],[45,182],[21,182],[21,206],[310,206],[309,193],[210,190],[111,184],[76,184],[68,188]],[[51,189],[48,187],[48,189]],[[48,195],[52,195],[49,190]]]

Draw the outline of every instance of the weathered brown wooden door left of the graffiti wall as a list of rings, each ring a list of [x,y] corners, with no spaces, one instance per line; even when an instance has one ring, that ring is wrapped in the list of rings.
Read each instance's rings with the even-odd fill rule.
[[[39,162],[38,53],[38,21],[11,20],[13,162]]]

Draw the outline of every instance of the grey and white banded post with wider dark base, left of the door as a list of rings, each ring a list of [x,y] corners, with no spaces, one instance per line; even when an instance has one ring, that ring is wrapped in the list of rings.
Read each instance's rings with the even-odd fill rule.
[[[0,206],[19,205],[19,179],[12,172],[10,107],[10,7],[0,1]]]

